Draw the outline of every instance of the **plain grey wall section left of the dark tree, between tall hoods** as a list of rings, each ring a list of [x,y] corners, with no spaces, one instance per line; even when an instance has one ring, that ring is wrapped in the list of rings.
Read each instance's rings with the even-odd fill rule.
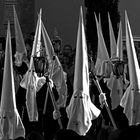
[[[42,8],[42,18],[50,38],[54,28],[62,38],[62,43],[75,47],[80,5],[83,0],[38,0],[36,11]],[[35,13],[36,14],[36,13]]]

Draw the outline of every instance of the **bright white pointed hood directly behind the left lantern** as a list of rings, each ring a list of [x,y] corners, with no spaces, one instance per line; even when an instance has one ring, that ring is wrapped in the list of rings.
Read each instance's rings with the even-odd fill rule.
[[[40,9],[40,13],[37,20],[36,32],[34,36],[33,48],[30,58],[29,69],[26,72],[24,78],[20,82],[21,87],[26,89],[26,107],[27,113],[30,121],[38,121],[38,110],[36,103],[36,92],[38,89],[38,81],[36,72],[34,72],[34,56],[40,56],[40,45],[41,45],[41,14],[42,10]],[[44,81],[44,79],[42,79]],[[41,81],[42,81],[41,80]],[[44,81],[45,82],[45,81]],[[41,83],[41,84],[44,84]],[[41,86],[41,85],[40,85]]]

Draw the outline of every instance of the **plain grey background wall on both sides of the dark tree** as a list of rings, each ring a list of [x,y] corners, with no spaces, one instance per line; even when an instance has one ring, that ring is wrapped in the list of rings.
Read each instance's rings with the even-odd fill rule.
[[[53,36],[54,28],[57,28],[64,44],[76,46],[77,27],[80,5],[84,0],[37,0],[36,12],[40,8],[43,10],[43,22],[50,37]],[[124,11],[127,10],[128,18],[133,35],[140,34],[140,1],[120,0],[119,11],[123,22],[124,31]]]

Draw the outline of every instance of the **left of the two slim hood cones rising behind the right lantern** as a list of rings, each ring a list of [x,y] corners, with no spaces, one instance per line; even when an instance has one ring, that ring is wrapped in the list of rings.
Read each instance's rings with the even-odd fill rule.
[[[112,27],[109,13],[108,13],[108,22],[109,22],[111,58],[114,58],[114,57],[116,57],[117,45],[116,45],[115,35],[114,35],[114,31],[113,31],[113,27]]]

